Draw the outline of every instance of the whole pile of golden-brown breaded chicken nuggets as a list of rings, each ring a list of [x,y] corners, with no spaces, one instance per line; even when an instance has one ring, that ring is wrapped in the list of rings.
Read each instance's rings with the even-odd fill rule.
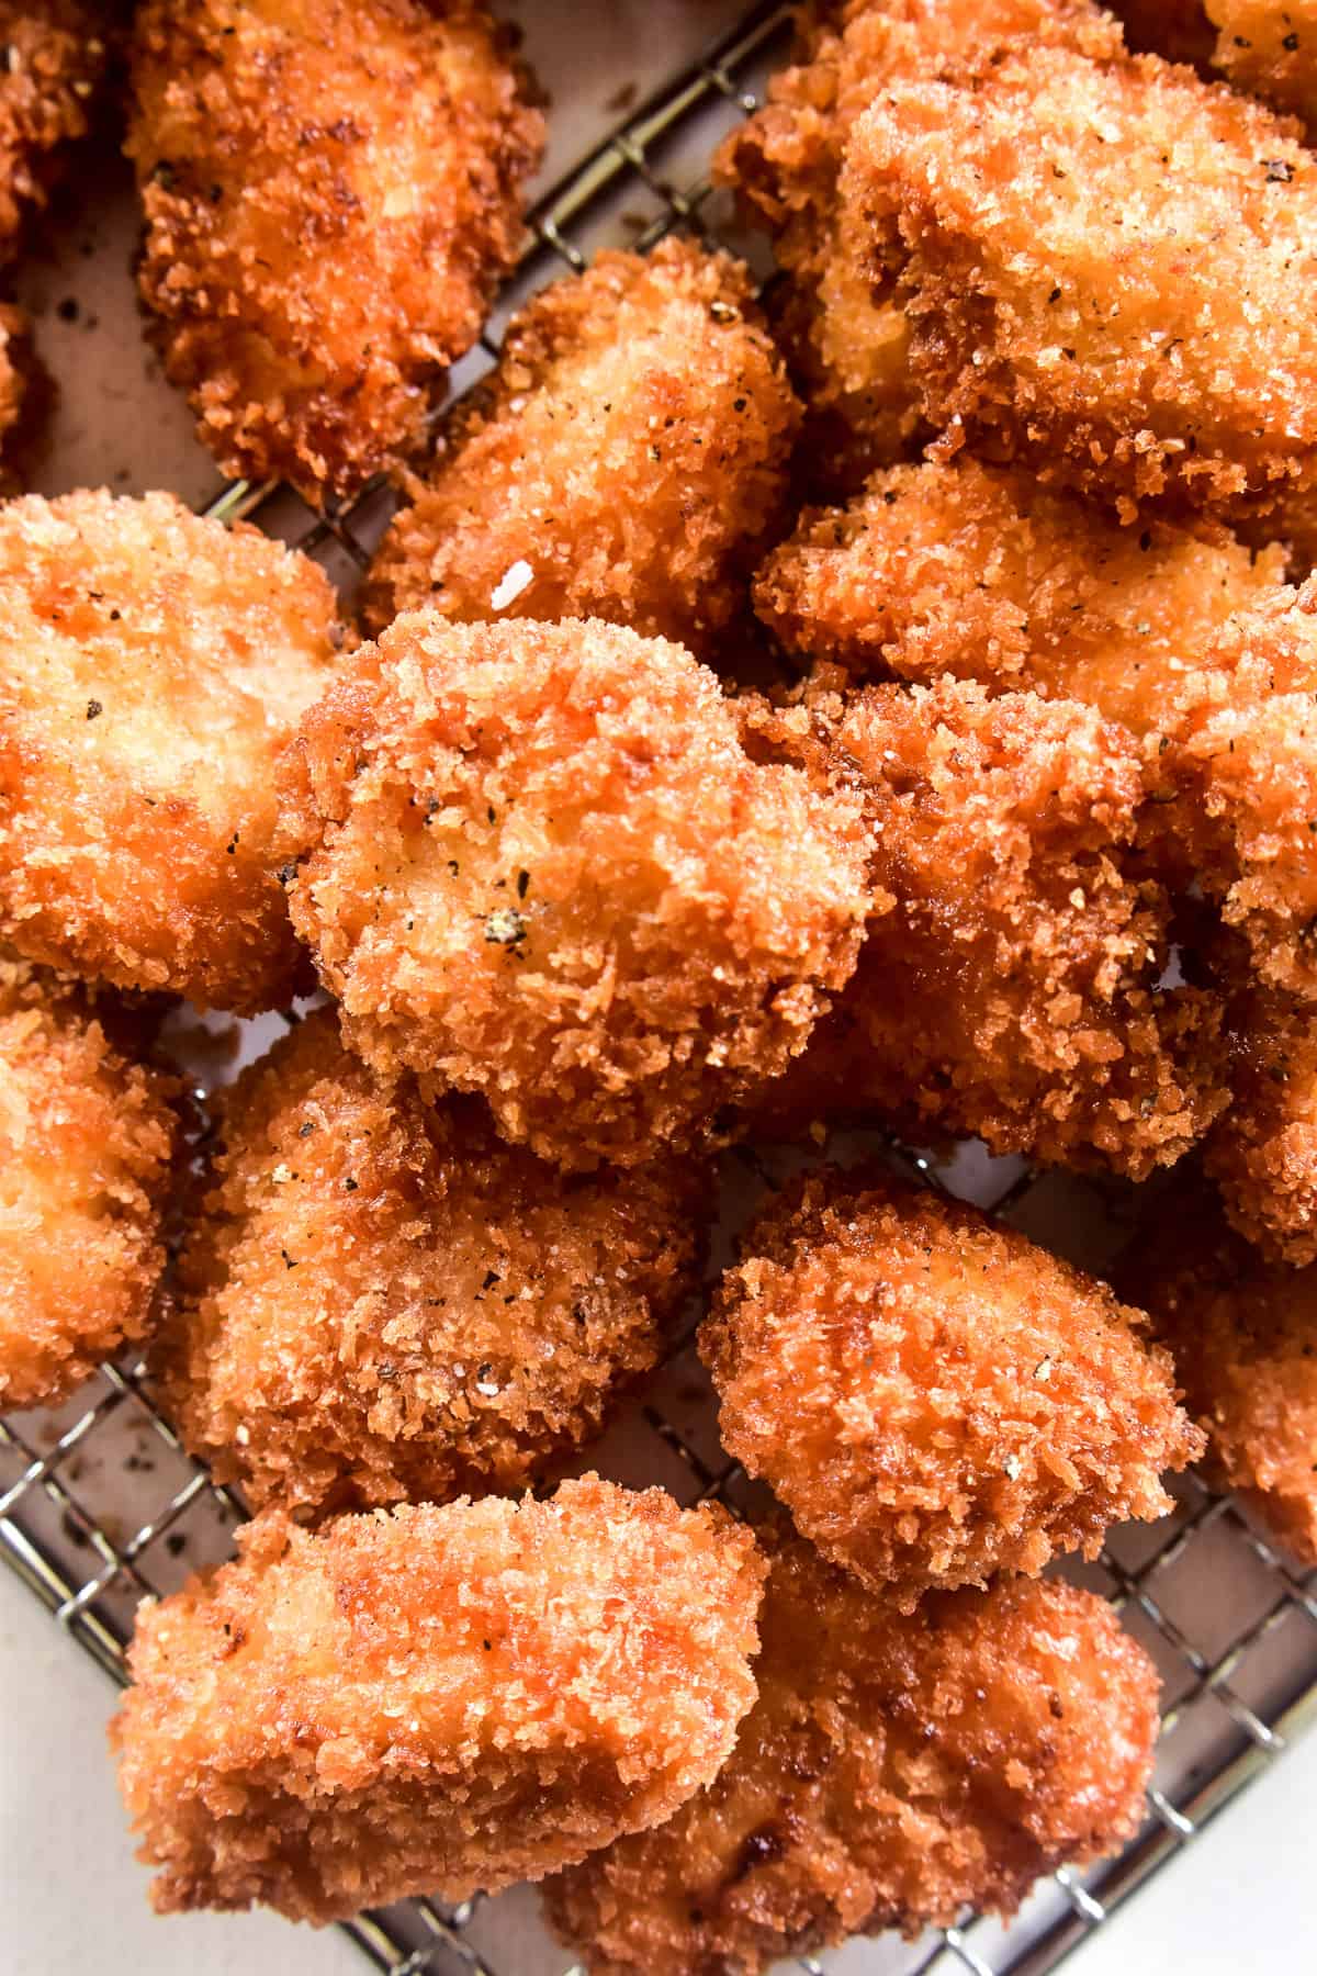
[[[766,287],[604,253],[436,423],[545,128],[482,0],[10,8],[0,255],[122,95],[203,445],[397,490],[344,599],[0,504],[0,1403],[144,1354],[253,1518],[138,1614],[158,1909],[539,1879],[590,1976],[1009,1915],[1157,1735],[1045,1569],[1197,1462],[1317,1563],[1317,8],[1118,12],[804,6],[715,160]],[[203,1124],[180,1000],[288,1018]],[[581,1458],[695,1324],[750,1522]]]

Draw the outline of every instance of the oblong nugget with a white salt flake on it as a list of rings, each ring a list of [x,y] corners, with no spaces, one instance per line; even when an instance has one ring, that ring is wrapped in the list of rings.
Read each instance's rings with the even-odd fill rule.
[[[717,660],[786,496],[800,407],[748,271],[604,253],[513,318],[375,557],[365,617],[608,618]]]

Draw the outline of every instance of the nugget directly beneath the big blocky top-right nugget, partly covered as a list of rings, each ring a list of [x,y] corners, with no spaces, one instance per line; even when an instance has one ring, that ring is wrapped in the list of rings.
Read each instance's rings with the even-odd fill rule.
[[[847,508],[806,512],[762,565],[754,605],[790,650],[857,676],[942,674],[1082,700],[1165,731],[1226,618],[1283,583],[1210,522],[1120,528],[1031,474],[952,462],[875,474]]]

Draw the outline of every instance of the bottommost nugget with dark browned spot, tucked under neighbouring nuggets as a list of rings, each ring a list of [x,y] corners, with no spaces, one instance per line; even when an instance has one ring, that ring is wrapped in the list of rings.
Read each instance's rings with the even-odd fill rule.
[[[1007,1579],[900,1616],[786,1539],[760,1624],[717,1782],[545,1887],[588,1976],[760,1976],[847,1935],[1011,1913],[1137,1832],[1157,1674],[1092,1593]]]

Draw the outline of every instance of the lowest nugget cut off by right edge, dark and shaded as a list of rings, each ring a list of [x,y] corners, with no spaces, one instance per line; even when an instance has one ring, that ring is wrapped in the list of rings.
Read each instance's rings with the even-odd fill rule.
[[[1317,1269],[1266,1263],[1199,1192],[1173,1194],[1122,1269],[1171,1346],[1214,1480],[1317,1565]]]

